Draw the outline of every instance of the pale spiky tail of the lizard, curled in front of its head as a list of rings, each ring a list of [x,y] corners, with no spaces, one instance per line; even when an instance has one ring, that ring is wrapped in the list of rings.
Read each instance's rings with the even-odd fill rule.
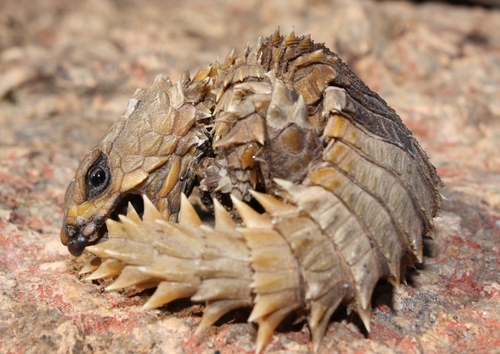
[[[356,285],[338,257],[326,253],[335,255],[335,246],[317,220],[301,212],[293,202],[285,204],[253,191],[252,195],[267,215],[233,198],[243,220],[242,227],[236,227],[215,200],[215,228],[201,222],[184,195],[178,223],[165,220],[144,196],[142,219],[130,206],[120,221],[107,221],[108,240],[87,247],[107,259],[92,269],[87,280],[118,275],[106,288],[108,291],[156,286],[145,309],[179,298],[205,302],[197,332],[231,310],[252,306],[248,320],[259,324],[257,352],[286,316],[308,308],[308,323],[317,348],[330,315],[340,302],[351,299]],[[293,228],[293,232],[287,228]],[[176,243],[177,247],[173,247]],[[323,256],[318,254],[320,249],[325,252]],[[334,276],[335,281],[326,281]],[[364,314],[367,309],[358,305],[358,312]]]

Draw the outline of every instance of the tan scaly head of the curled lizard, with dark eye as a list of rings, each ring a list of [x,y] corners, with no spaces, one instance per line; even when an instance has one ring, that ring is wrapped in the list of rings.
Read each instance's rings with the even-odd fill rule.
[[[137,90],[122,117],[85,156],[65,195],[61,242],[72,255],[101,238],[106,219],[124,214],[128,202],[141,208],[141,195],[166,217],[175,214],[181,192],[192,182],[187,174],[196,148],[206,139],[195,124],[196,100],[187,102],[184,94],[190,83],[184,77],[172,85],[159,76],[149,89]],[[201,96],[204,85],[191,85],[191,91]]]

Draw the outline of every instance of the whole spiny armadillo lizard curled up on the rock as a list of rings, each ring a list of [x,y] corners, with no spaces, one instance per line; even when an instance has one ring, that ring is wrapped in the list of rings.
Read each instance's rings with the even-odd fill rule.
[[[258,351],[300,311],[317,348],[339,304],[369,329],[377,281],[422,261],[441,184],[336,54],[276,32],[137,90],[68,187],[61,240],[105,259],[87,270],[119,275],[109,289],[156,286],[146,308],[206,302],[203,329],[253,307]],[[183,197],[194,187],[214,228]]]

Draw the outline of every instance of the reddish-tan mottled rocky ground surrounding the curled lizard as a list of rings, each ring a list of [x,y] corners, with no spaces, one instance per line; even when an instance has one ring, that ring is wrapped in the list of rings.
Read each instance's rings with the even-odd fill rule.
[[[60,244],[64,191],[136,87],[271,34],[310,33],[384,97],[446,187],[408,285],[381,283],[371,333],[338,311],[320,353],[500,353],[500,11],[376,1],[0,2],[0,352],[244,353],[248,312],[202,336],[203,306],[141,311]],[[304,323],[268,353],[312,351]]]

